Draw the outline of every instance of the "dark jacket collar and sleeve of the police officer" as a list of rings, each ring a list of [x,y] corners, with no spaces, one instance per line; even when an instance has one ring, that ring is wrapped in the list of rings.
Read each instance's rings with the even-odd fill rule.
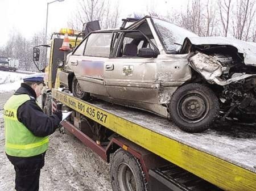
[[[18,108],[18,120],[37,137],[46,137],[52,134],[61,119],[56,114],[49,117],[42,111],[39,105],[36,104],[35,91],[27,84],[22,83],[21,87],[15,92],[15,95],[20,94],[27,94],[31,99]]]

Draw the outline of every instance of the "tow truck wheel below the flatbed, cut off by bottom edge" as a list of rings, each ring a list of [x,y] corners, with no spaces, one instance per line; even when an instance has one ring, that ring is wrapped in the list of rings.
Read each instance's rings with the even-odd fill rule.
[[[110,176],[113,191],[146,191],[147,182],[138,159],[119,148],[112,156]]]

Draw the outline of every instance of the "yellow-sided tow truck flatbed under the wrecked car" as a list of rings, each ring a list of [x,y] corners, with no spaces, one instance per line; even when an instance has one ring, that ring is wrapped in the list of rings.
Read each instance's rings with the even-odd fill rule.
[[[60,89],[52,89],[52,98],[73,111],[61,125],[102,159],[113,163],[118,149],[138,159],[148,182],[144,190],[256,190],[254,126],[222,124],[191,134],[138,109],[82,101]],[[109,141],[94,139],[88,121],[113,132]]]

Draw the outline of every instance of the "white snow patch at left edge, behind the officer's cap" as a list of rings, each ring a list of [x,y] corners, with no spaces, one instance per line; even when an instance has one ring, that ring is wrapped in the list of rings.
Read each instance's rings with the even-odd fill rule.
[[[28,74],[0,71],[0,94],[17,90],[22,83],[22,78]]]

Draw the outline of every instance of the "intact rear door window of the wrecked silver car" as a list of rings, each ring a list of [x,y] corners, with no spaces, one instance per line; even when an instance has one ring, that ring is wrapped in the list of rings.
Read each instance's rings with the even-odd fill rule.
[[[84,56],[109,57],[112,36],[112,32],[90,34]]]

